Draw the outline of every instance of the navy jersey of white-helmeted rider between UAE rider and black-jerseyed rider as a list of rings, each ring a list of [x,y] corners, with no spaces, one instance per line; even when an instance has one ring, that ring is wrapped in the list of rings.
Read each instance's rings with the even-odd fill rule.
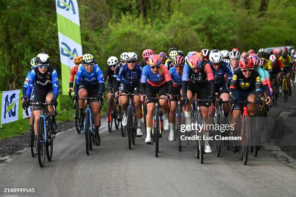
[[[215,85],[217,87],[221,87],[222,85],[225,84],[225,78],[224,78],[224,74],[226,73],[227,75],[227,79],[228,79],[228,83],[230,82],[231,80],[231,77],[232,77],[232,72],[231,70],[229,69],[228,65],[226,62],[221,62],[221,66],[218,70],[216,70],[214,67],[213,67],[213,64],[212,62],[209,62],[209,65],[211,66],[211,69],[212,69],[212,72],[213,72],[213,75],[214,75],[214,81],[215,81]]]

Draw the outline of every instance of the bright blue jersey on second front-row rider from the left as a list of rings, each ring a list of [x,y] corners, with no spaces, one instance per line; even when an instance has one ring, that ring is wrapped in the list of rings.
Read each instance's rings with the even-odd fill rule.
[[[77,71],[77,75],[75,79],[75,87],[74,87],[75,94],[78,93],[80,84],[83,86],[96,86],[99,84],[99,94],[103,94],[104,77],[100,67],[95,64],[91,72],[87,72],[84,66],[80,67]]]

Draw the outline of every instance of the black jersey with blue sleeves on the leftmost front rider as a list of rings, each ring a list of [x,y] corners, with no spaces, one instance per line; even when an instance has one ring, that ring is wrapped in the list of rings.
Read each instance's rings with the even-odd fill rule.
[[[49,66],[47,71],[42,74],[37,67],[33,68],[28,76],[29,82],[26,91],[26,97],[30,98],[34,86],[35,95],[39,91],[53,91],[54,99],[59,96],[59,80],[58,73],[52,66]],[[35,84],[35,85],[34,85]]]

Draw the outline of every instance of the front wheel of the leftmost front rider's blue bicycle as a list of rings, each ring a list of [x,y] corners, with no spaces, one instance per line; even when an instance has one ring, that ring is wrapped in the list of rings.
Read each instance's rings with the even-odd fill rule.
[[[39,165],[40,167],[44,167],[44,163],[45,163],[45,149],[46,149],[46,145],[45,145],[45,141],[44,141],[44,117],[40,117],[39,118],[39,122],[38,122],[38,132],[37,132],[37,137],[38,137],[38,141],[37,141],[37,153],[38,153],[38,161],[39,161]]]

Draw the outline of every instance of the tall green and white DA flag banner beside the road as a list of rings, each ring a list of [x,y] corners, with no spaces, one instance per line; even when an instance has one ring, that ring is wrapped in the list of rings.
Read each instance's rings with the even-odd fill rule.
[[[78,3],[76,0],[56,0],[56,6],[62,94],[67,95],[74,57],[82,56]]]

